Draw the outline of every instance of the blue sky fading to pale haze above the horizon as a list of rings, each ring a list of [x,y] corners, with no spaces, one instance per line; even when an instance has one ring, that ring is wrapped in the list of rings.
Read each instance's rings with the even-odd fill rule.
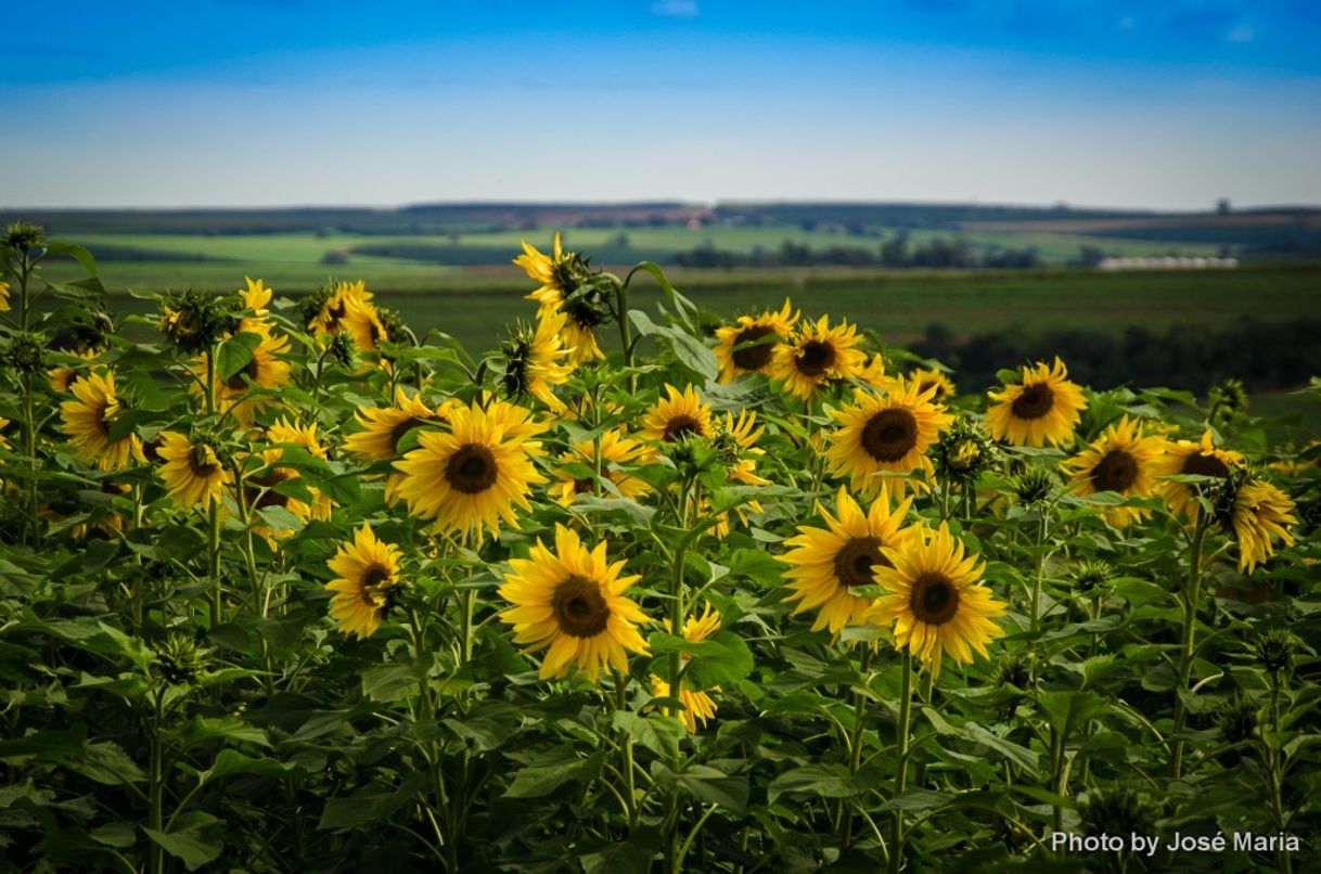
[[[1321,203],[1321,4],[63,3],[0,205]]]

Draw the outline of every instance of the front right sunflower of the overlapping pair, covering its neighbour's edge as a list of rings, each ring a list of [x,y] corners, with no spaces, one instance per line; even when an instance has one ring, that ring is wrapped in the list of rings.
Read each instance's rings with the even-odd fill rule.
[[[893,622],[897,647],[906,647],[933,677],[941,675],[943,652],[959,664],[972,661],[972,650],[988,656],[985,644],[1004,634],[992,618],[1005,605],[978,584],[985,565],[975,553],[964,555],[946,523],[938,531],[922,527],[884,555],[889,562],[876,565],[876,582],[890,594],[876,599],[868,618]]]

